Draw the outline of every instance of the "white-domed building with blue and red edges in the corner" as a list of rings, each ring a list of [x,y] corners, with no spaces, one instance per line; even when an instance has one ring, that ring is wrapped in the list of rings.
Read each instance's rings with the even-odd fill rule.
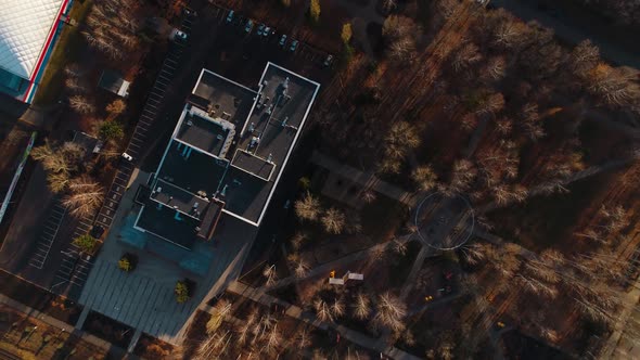
[[[3,0],[0,92],[30,103],[72,0]]]

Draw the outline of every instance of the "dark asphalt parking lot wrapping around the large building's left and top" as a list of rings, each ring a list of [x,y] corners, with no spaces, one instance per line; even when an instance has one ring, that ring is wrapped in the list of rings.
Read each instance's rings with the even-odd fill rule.
[[[66,214],[55,197],[50,198],[42,173],[29,180],[37,183],[29,183],[33,194],[27,197],[40,198],[40,202],[21,204],[22,213],[31,214],[37,207],[47,210],[41,218],[21,220],[11,235],[15,244],[2,252],[7,253],[2,254],[3,268],[54,293],[79,297],[97,259],[80,254],[72,244],[73,239],[95,227],[110,231],[131,175],[143,164],[156,167],[166,139],[203,67],[252,88],[256,87],[256,79],[260,78],[267,62],[321,83],[333,75],[334,65],[324,64],[328,53],[303,41],[295,43],[296,39],[278,29],[265,31],[268,24],[261,27],[252,21],[253,26],[247,31],[247,18],[235,14],[233,21],[227,22],[228,15],[226,9],[207,5],[197,16],[182,20],[179,29],[187,34],[187,40],[171,43],[125,151],[132,159],[123,160],[118,166],[95,218],[75,219]]]

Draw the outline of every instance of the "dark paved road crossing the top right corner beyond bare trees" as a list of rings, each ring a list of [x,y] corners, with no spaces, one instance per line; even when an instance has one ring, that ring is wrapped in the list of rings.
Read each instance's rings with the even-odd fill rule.
[[[576,23],[568,14],[553,17],[537,8],[535,1],[529,0],[491,0],[491,4],[503,8],[524,21],[537,21],[552,28],[555,35],[571,43],[578,43],[585,39],[600,48],[602,57],[617,65],[626,65],[640,69],[640,54],[629,52],[619,46],[612,43],[611,39],[597,31],[597,27],[584,27]]]

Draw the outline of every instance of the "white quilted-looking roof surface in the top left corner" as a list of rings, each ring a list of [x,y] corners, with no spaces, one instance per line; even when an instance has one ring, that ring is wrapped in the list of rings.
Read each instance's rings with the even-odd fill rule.
[[[67,0],[0,2],[0,67],[30,79]]]

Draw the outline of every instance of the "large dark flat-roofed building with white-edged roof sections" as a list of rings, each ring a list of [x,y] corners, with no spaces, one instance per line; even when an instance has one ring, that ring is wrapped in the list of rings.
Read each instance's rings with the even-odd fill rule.
[[[257,83],[202,70],[138,228],[190,248],[220,213],[259,226],[320,86],[272,63]]]

